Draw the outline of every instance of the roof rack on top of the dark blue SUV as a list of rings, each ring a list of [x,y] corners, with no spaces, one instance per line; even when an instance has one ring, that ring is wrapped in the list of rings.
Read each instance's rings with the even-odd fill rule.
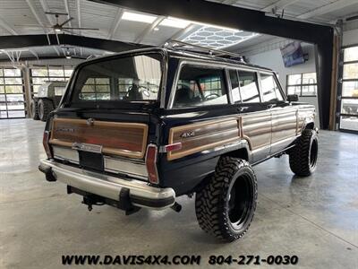
[[[175,40],[175,39],[169,39],[166,44],[164,45],[166,48],[173,48],[173,49],[179,49],[183,51],[188,52],[196,52],[200,54],[207,54],[209,56],[218,56],[218,57],[225,57],[225,58],[232,58],[235,60],[239,60],[244,63],[243,56],[228,52],[225,50],[215,49],[215,48],[205,48],[201,47],[199,45],[194,45],[190,43],[186,43],[183,41]]]

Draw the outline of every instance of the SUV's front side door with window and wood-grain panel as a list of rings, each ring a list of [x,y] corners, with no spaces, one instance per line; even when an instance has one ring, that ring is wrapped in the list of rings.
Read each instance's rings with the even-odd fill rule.
[[[272,73],[260,73],[262,101],[271,112],[271,147],[269,154],[282,151],[294,141],[297,132],[297,107],[283,98],[277,77]]]

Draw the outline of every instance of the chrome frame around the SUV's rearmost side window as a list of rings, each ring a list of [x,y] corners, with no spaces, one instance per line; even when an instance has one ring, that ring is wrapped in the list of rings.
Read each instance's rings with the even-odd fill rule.
[[[225,86],[227,102],[225,104],[210,104],[210,105],[206,105],[206,106],[188,106],[185,108],[175,108],[174,101],[175,101],[176,87],[178,85],[178,82],[180,79],[180,74],[182,73],[182,69],[183,69],[184,65],[199,66],[202,68],[221,70],[223,73],[223,85]],[[171,88],[171,92],[170,92],[170,96],[169,96],[167,109],[170,109],[170,110],[176,109],[177,110],[177,109],[190,109],[190,108],[220,107],[220,106],[230,105],[233,102],[232,102],[231,91],[229,91],[231,89],[231,83],[228,82],[228,80],[229,80],[229,77],[227,76],[227,66],[225,66],[225,65],[220,65],[220,64],[215,64],[215,63],[203,63],[200,61],[181,60],[177,66],[174,82],[172,84],[172,88]]]

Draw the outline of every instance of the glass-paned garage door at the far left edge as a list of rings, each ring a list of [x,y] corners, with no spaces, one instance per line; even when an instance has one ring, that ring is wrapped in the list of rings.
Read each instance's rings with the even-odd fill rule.
[[[0,67],[0,119],[25,117],[24,95],[21,70]]]

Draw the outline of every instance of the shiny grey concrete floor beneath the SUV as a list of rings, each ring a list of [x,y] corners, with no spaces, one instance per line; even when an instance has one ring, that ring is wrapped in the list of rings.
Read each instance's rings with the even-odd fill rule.
[[[195,254],[203,268],[210,255],[296,255],[295,268],[358,268],[355,134],[321,132],[318,169],[309,178],[294,178],[286,156],[255,167],[259,204],[251,228],[222,244],[200,230],[187,197],[178,199],[182,213],[88,212],[80,196],[38,172],[43,128],[30,119],[0,120],[1,268],[63,268],[63,254]]]

